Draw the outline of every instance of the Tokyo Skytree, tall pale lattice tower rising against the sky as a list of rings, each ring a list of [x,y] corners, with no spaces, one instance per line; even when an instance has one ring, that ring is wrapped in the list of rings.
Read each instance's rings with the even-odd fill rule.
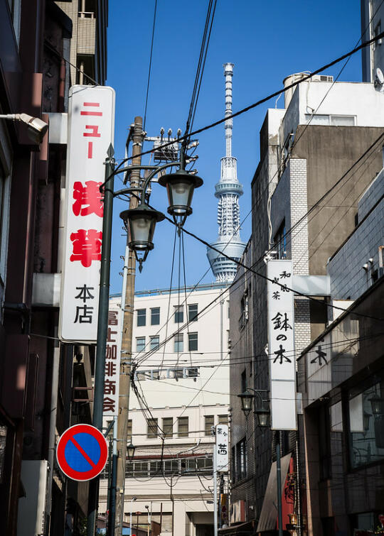
[[[225,116],[232,114],[232,77],[233,63],[225,63]],[[232,156],[233,120],[225,121],[225,156],[221,158],[220,180],[215,185],[218,198],[218,239],[211,245],[240,261],[245,243],[240,239],[239,197],[242,185],[238,181],[237,160]],[[237,265],[217,251],[207,248],[208,261],[216,281],[231,282],[235,278]]]

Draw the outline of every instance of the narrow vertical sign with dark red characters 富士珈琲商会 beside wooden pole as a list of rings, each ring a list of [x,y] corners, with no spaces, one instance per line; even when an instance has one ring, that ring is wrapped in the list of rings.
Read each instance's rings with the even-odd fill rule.
[[[117,417],[119,413],[120,354],[122,349],[122,310],[116,304],[108,311],[107,353],[103,416]]]

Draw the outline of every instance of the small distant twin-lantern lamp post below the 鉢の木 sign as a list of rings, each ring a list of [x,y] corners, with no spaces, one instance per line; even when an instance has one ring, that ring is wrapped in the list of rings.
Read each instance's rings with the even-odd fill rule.
[[[250,391],[253,391],[251,393]],[[252,411],[252,404],[255,405],[255,399],[258,398],[258,403],[254,408],[254,415],[257,417],[257,426],[260,428],[267,428],[270,426],[270,410],[267,407],[269,400],[263,399],[261,393],[268,393],[265,389],[245,389],[244,393],[238,395],[241,400],[241,409],[247,418]],[[276,444],[276,469],[277,469],[277,518],[279,521],[279,536],[282,536],[282,466],[280,459],[280,432],[275,431],[275,444]]]

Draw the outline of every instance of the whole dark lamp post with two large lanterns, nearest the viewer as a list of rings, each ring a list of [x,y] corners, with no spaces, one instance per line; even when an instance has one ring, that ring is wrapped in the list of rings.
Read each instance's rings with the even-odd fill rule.
[[[129,232],[130,241],[129,248],[134,251],[134,254],[139,262],[139,270],[142,271],[142,263],[146,260],[149,251],[154,248],[152,242],[156,223],[164,219],[164,214],[152,209],[147,204],[149,198],[147,189],[151,180],[159,171],[171,166],[179,166],[176,173],[162,181],[168,192],[176,192],[172,194],[170,199],[176,202],[170,205],[168,212],[174,217],[174,221],[178,226],[183,226],[188,214],[191,214],[191,201],[193,190],[195,187],[200,187],[203,180],[199,177],[192,176],[188,182],[189,173],[185,168],[185,148],[181,148],[179,162],[166,163],[161,166],[154,165],[129,165],[124,168],[114,170],[115,160],[113,158],[113,148],[107,151],[105,160],[105,182],[100,186],[100,191],[104,193],[104,217],[102,222],[102,251],[101,251],[101,266],[100,266],[100,292],[99,292],[99,311],[97,319],[97,346],[96,346],[96,363],[95,363],[95,391],[94,391],[94,410],[92,424],[99,430],[102,429],[102,410],[104,398],[104,373],[105,373],[105,351],[107,346],[107,324],[108,324],[108,308],[110,300],[110,261],[111,261],[111,244],[112,244],[112,210],[113,199],[119,195],[135,195],[140,198],[139,205],[134,209],[124,210],[120,217],[124,221],[124,225]],[[114,175],[118,173],[127,173],[127,182],[130,173],[133,170],[149,170],[149,175],[146,177],[142,185],[134,185],[126,187],[123,190],[114,192]],[[181,173],[178,173],[181,172]],[[178,196],[178,197],[177,197]],[[112,466],[113,487],[116,483],[116,467]],[[94,478],[90,481],[90,491],[88,497],[88,519],[87,519],[87,536],[95,535],[96,518],[97,518],[97,503],[98,503],[98,488],[99,478]],[[115,508],[115,503],[112,501],[112,510]],[[111,512],[111,518],[114,519],[114,511]],[[114,526],[111,527],[111,536],[114,536]]]

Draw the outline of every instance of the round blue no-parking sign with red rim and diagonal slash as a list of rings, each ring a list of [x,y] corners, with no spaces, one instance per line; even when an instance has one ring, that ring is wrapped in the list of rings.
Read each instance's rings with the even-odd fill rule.
[[[71,426],[58,440],[58,465],[72,480],[86,481],[95,478],[104,469],[107,457],[105,437],[94,426]]]

